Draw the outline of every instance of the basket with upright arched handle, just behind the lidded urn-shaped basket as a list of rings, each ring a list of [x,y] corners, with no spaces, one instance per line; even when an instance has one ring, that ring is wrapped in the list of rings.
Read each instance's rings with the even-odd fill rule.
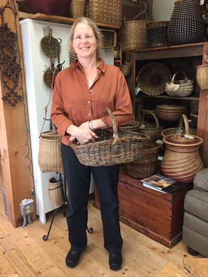
[[[183,122],[185,124],[185,128],[183,128]],[[179,128],[169,128],[162,131],[162,136],[167,136],[170,134],[186,134],[186,135],[195,135],[197,134],[197,129],[189,128],[188,126],[188,118],[186,115],[181,115]]]

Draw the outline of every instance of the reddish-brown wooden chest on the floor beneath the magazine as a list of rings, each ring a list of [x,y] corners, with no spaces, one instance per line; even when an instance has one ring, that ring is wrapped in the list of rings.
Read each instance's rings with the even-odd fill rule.
[[[131,178],[122,167],[118,185],[120,221],[158,243],[173,247],[182,238],[183,201],[192,188],[189,183],[174,193],[155,191]],[[99,209],[96,186],[94,198],[93,205]]]

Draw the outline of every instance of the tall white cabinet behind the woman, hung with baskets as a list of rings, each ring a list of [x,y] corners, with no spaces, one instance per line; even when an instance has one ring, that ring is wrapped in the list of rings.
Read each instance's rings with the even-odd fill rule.
[[[70,65],[68,38],[71,25],[32,20],[28,18],[20,21],[27,106],[30,122],[36,209],[37,215],[39,215],[39,219],[43,223],[46,223],[46,213],[56,208],[48,198],[48,179],[50,179],[51,176],[55,176],[56,172],[42,173],[38,165],[39,134],[45,117],[44,107],[48,104],[51,92],[51,89],[48,89],[43,81],[44,70],[51,65],[50,58],[44,55],[40,47],[40,41],[44,37],[43,28],[45,27],[50,27],[51,30],[53,30],[53,37],[62,40],[62,43],[60,44],[60,63],[63,63],[65,60],[63,67],[68,67]],[[113,54],[113,49],[105,49],[105,56],[103,56],[105,63],[113,65]],[[57,64],[58,58],[55,58],[55,66]],[[50,114],[51,103],[48,105],[48,119],[50,119]],[[49,121],[46,121],[43,131],[49,129],[50,123]]]

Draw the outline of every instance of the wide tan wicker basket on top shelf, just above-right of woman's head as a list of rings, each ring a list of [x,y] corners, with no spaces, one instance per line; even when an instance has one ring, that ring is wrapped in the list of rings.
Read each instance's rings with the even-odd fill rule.
[[[121,0],[86,0],[85,15],[95,22],[122,25]]]

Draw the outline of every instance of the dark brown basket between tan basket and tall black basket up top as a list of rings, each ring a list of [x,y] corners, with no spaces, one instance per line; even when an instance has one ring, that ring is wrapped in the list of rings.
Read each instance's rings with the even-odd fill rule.
[[[151,47],[168,46],[167,26],[169,21],[152,22],[147,25],[148,40]]]

